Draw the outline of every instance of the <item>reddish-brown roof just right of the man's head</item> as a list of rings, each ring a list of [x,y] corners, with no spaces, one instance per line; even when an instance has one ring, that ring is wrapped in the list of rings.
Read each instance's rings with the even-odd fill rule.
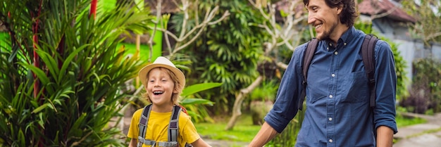
[[[389,13],[388,11],[392,11]],[[382,15],[389,13],[384,17],[402,22],[416,23],[416,19],[404,12],[399,6],[393,4],[390,0],[363,0],[359,4],[359,12],[364,15]]]

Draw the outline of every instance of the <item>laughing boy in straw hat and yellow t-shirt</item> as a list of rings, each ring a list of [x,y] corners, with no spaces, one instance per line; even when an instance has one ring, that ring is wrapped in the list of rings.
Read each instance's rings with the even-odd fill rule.
[[[151,111],[147,118],[145,139],[138,139],[139,120],[141,120],[143,109],[139,109],[133,114],[128,132],[128,137],[132,139],[129,146],[170,144],[168,142],[170,117],[173,108],[179,104],[180,94],[185,87],[185,75],[170,60],[158,57],[154,63],[139,70],[138,76],[146,89],[146,93],[142,96],[151,103]],[[209,146],[197,133],[190,116],[184,112],[179,113],[176,146],[185,146],[186,143],[191,143],[194,147]]]

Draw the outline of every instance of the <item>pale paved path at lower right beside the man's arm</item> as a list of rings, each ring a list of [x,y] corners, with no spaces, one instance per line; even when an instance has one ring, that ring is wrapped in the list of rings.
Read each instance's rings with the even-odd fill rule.
[[[402,115],[421,117],[426,119],[427,123],[398,128],[398,133],[394,135],[394,138],[399,141],[393,147],[441,146],[441,113],[433,116],[413,113],[403,113]]]

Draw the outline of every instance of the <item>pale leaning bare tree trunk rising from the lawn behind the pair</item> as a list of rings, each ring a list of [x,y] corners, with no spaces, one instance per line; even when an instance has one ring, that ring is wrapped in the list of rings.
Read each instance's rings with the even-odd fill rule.
[[[235,105],[232,106],[232,116],[230,118],[230,121],[228,121],[228,124],[227,124],[227,127],[225,127],[225,130],[231,130],[233,127],[235,127],[235,124],[237,122],[237,118],[240,115],[242,115],[242,112],[240,110],[242,108],[242,102],[244,101],[244,95],[249,94],[257,86],[259,86],[259,84],[261,84],[261,82],[262,82],[262,79],[263,79],[263,76],[260,75],[247,88],[241,89],[239,94],[237,94],[236,100],[235,100]]]

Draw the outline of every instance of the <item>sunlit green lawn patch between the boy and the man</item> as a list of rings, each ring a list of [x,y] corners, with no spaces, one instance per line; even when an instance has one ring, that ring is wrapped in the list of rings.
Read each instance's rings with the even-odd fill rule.
[[[259,132],[260,125],[253,125],[251,122],[251,116],[242,114],[235,124],[235,127],[226,131],[225,127],[228,124],[228,118],[215,119],[216,123],[195,123],[197,132],[204,138],[224,141],[251,141],[254,136]]]

